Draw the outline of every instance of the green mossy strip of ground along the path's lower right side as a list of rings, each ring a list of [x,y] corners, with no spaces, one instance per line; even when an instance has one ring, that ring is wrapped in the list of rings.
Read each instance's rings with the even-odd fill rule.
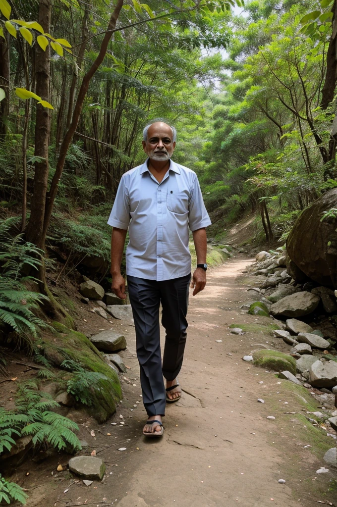
[[[335,445],[335,441],[327,437],[324,421],[311,413],[307,414],[307,412],[320,411],[321,408],[305,387],[288,380],[280,379],[279,381],[281,384],[278,386],[278,391],[275,392],[274,389],[274,392],[268,391],[265,401],[268,415],[273,414],[276,417],[270,423],[271,438],[274,445],[283,450],[284,473],[286,477],[291,477],[292,483],[294,481],[298,483],[299,490],[306,491],[308,503],[335,502],[337,481],[331,474],[312,474],[313,467],[315,470],[321,466],[330,468],[323,461],[323,456]],[[288,405],[285,405],[284,401],[287,401]],[[317,426],[314,426],[307,418],[316,419]],[[273,429],[275,425],[276,431]],[[305,446],[310,447],[305,449],[307,458],[304,459]],[[297,500],[296,489],[293,488],[293,491],[294,499]]]

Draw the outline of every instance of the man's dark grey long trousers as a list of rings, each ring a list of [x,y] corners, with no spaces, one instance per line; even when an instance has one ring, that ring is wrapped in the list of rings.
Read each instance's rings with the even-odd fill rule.
[[[148,416],[165,415],[163,376],[174,380],[181,370],[186,343],[188,289],[191,275],[172,280],[127,276],[127,287],[136,328],[137,357],[141,371],[143,403]],[[159,306],[166,331],[161,365]]]

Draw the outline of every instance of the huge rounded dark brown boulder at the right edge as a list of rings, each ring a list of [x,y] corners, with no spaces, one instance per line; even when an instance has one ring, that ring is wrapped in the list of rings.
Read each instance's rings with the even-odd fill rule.
[[[337,287],[337,218],[322,219],[337,208],[337,188],[331,189],[306,208],[296,220],[286,246],[294,264],[321,285]],[[296,280],[297,281],[297,280]]]

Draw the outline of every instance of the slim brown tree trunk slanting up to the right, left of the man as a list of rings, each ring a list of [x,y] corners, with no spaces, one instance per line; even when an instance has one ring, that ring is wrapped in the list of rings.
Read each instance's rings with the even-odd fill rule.
[[[119,13],[123,7],[123,3],[124,3],[124,0],[118,0],[117,5],[114,9],[114,12],[111,15],[109,25],[108,25],[107,31],[105,33],[102,45],[100,46],[100,50],[97,55],[97,58],[95,59],[95,61],[91,65],[90,69],[88,70],[87,74],[83,78],[83,81],[82,81],[82,84],[81,84],[81,87],[80,87],[80,90],[78,93],[76,105],[75,105],[73,120],[72,120],[72,123],[69,127],[69,130],[65,133],[65,136],[63,138],[61,148],[60,148],[60,154],[59,154],[57,164],[56,164],[56,171],[55,171],[55,174],[52,179],[51,186],[50,186],[48,201],[46,203],[46,209],[45,209],[45,213],[44,213],[44,225],[43,225],[43,233],[42,233],[42,238],[41,238],[42,244],[44,244],[45,239],[46,239],[47,230],[48,230],[48,226],[49,226],[49,222],[50,222],[50,217],[51,217],[51,213],[52,213],[52,209],[53,209],[53,205],[54,205],[54,200],[55,200],[55,197],[57,194],[58,182],[60,180],[60,177],[61,177],[61,174],[63,171],[63,167],[64,167],[65,157],[66,157],[66,154],[68,153],[70,143],[72,142],[73,135],[76,131],[76,128],[77,128],[77,125],[78,125],[78,122],[80,119],[84,99],[86,97],[90,81],[91,81],[93,75],[95,74],[96,70],[98,69],[99,65],[102,64],[104,57],[107,53],[108,44],[110,42],[110,39],[111,39],[112,33],[113,33],[112,30],[114,30],[114,28],[116,27],[117,19],[118,19]]]

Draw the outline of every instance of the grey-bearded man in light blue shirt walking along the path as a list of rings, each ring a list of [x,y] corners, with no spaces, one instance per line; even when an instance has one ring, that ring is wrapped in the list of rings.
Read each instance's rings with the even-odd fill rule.
[[[126,276],[136,328],[137,357],[143,402],[148,414],[143,433],[163,434],[165,405],[182,394],[177,376],[183,363],[187,329],[192,231],[197,268],[193,296],[206,285],[206,227],[211,224],[196,174],[171,156],[176,129],[163,122],[145,127],[143,148],[148,159],[123,174],[108,224],[111,238],[112,291],[125,299],[120,266],[127,229]],[[161,364],[159,306],[166,331]],[[163,376],[166,379],[164,387]]]

